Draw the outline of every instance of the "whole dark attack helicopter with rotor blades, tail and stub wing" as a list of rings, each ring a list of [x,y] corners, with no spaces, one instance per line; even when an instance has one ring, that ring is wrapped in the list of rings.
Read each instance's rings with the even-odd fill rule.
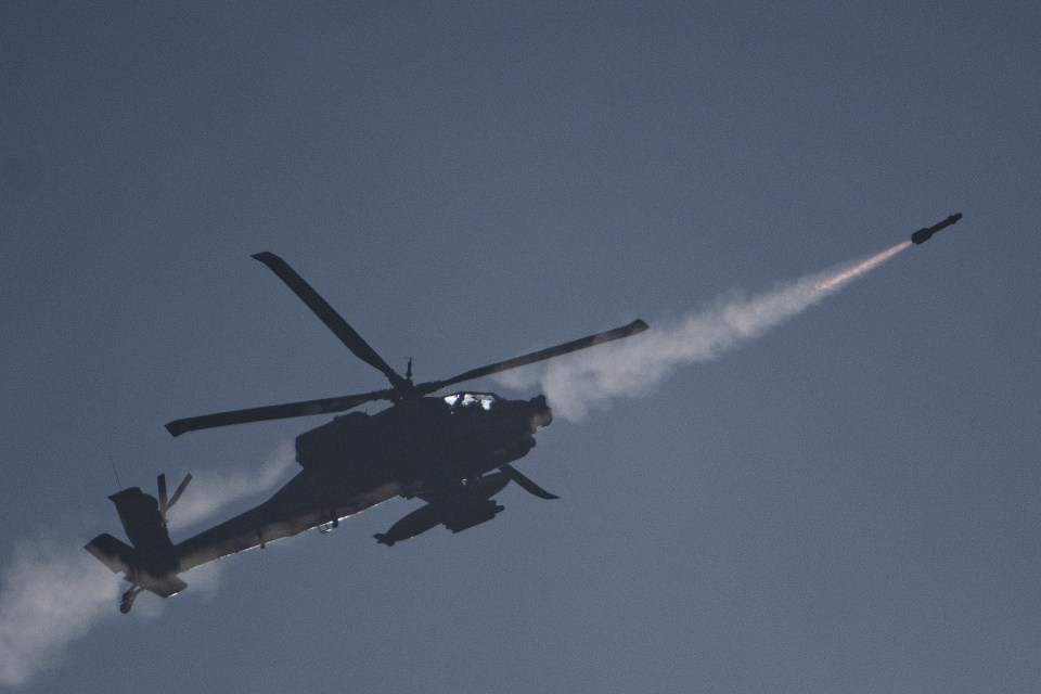
[[[433,394],[449,386],[560,357],[647,329],[641,320],[522,357],[472,369],[444,381],[415,384],[412,360],[402,376],[282,258],[253,256],[270,268],[356,357],[381,371],[389,388],[359,395],[233,410],[177,420],[166,425],[174,436],[246,422],[344,412],[365,402],[387,400],[375,414],[348,412],[296,438],[301,470],[273,497],[224,523],[177,544],[167,531],[167,512],[183,493],[191,475],[172,497],[158,477],[158,499],[138,487],[108,497],[116,505],[130,545],[108,534],[86,550],[131,587],[120,603],[127,613],[144,590],[168,597],[187,587],[178,576],[221,556],[264,547],[310,528],[336,527],[339,520],[397,496],[419,498],[424,506],[375,535],[393,545],[445,525],[452,532],[491,520],[503,510],[492,499],[509,483],[541,499],[556,499],[520,474],[512,462],[535,446],[539,427],[553,420],[545,396],[507,400],[490,393]],[[131,547],[132,545],[132,547]]]

